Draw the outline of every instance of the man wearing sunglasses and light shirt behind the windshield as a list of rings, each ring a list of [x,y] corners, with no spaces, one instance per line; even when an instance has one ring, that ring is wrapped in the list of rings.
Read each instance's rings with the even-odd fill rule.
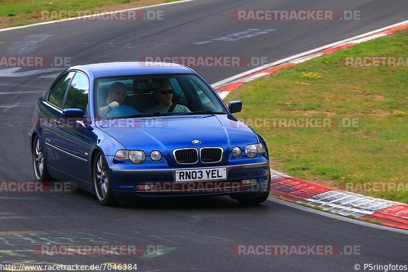
[[[167,113],[173,101],[173,90],[167,81],[161,81],[159,88],[155,90],[155,96],[159,100],[159,104],[150,108],[148,113]],[[189,113],[191,112],[186,106],[176,104],[173,113]]]

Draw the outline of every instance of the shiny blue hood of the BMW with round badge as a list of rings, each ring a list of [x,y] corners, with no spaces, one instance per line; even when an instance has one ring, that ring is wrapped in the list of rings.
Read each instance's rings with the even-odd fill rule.
[[[172,157],[179,148],[245,147],[258,142],[257,135],[232,115],[163,116],[97,121],[96,126],[128,150],[143,150],[146,155],[159,150]],[[193,140],[200,141],[194,145]],[[224,154],[224,158],[227,154]]]

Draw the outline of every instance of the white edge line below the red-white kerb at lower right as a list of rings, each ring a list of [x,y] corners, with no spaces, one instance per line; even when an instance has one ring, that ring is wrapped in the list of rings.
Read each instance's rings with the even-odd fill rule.
[[[408,231],[406,231],[406,230],[392,228],[392,227],[386,227],[386,226],[382,226],[382,225],[376,225],[376,224],[373,224],[373,223],[368,223],[368,222],[361,221],[361,220],[351,219],[349,217],[344,217],[344,216],[341,216],[341,215],[337,215],[337,214],[328,213],[328,212],[325,212],[325,211],[305,207],[305,206],[302,206],[302,205],[294,204],[294,203],[287,202],[287,201],[280,200],[280,199],[273,198],[273,197],[269,197],[268,200],[271,201],[271,202],[281,204],[281,205],[284,205],[284,206],[288,206],[288,207],[291,207],[291,208],[295,208],[295,209],[298,209],[298,210],[307,211],[307,212],[315,213],[315,214],[318,214],[318,215],[323,215],[323,216],[329,217],[331,219],[337,219],[337,220],[340,220],[340,221],[344,221],[344,222],[348,222],[348,223],[352,223],[352,224],[356,224],[356,225],[360,225],[360,226],[364,226],[364,227],[369,227],[369,228],[373,228],[373,229],[392,231],[392,232],[407,234],[408,235]]]

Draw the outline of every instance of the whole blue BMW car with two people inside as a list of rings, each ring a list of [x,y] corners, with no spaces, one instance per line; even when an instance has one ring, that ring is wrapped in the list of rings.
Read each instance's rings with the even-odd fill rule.
[[[72,182],[102,205],[229,195],[264,202],[268,149],[214,89],[181,64],[73,66],[39,97],[30,130],[38,181]]]

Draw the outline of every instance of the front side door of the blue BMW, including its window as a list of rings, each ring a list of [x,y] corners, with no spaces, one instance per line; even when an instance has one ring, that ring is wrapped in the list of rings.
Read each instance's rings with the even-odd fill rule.
[[[77,71],[73,76],[63,100],[63,110],[79,108],[85,113],[88,106],[89,79]],[[58,169],[79,179],[84,179],[88,156],[84,152],[86,124],[84,118],[63,118],[58,113],[54,128],[54,146]]]

